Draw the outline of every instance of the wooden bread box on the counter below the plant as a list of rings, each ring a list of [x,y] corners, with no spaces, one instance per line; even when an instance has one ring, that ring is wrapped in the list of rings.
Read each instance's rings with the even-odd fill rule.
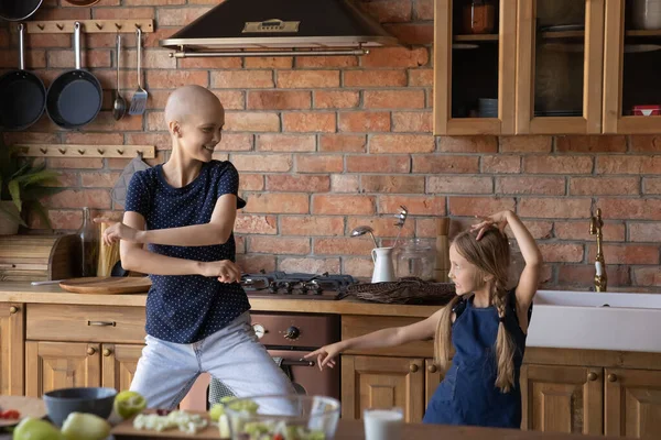
[[[66,279],[79,276],[78,238],[0,235],[0,282]]]

